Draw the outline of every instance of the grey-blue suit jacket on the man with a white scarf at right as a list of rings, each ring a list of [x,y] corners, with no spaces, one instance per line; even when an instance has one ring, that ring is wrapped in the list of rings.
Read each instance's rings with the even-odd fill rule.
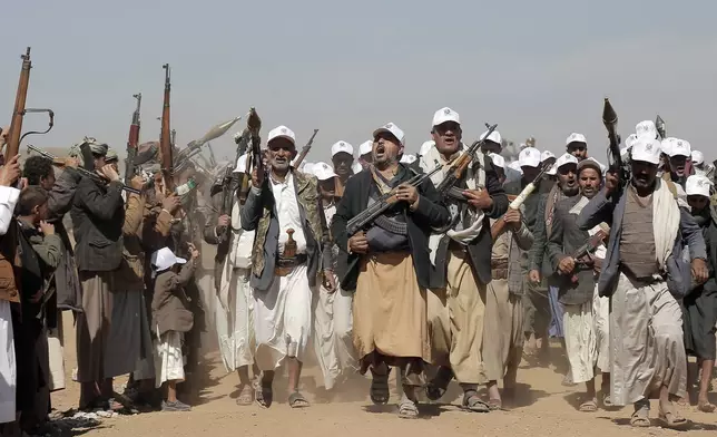
[[[661,184],[664,181],[658,178],[657,183]],[[577,221],[578,226],[583,231],[591,230],[602,222],[610,225],[607,255],[602,262],[602,271],[598,281],[598,292],[602,297],[609,297],[615,292],[620,275],[620,237],[622,235],[622,217],[627,198],[625,190],[628,190],[628,186],[623,188],[622,195],[619,196],[616,203],[612,196],[607,197],[606,188],[602,188],[582,208]],[[707,259],[701,230],[695,223],[691,214],[680,208],[679,231],[675,239],[672,253],[667,259],[667,287],[676,298],[685,297],[690,290],[690,266],[682,260],[685,245],[689,246],[691,260]]]

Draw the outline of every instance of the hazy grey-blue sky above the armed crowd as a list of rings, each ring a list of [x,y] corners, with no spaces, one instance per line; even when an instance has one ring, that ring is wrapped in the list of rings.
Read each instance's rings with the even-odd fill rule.
[[[157,139],[164,70],[184,145],[256,106],[263,135],[285,124],[307,161],[340,139],[355,147],[394,122],[410,153],[433,113],[460,113],[464,136],[498,123],[503,137],[564,149],[571,132],[605,161],[602,98],[627,137],[659,113],[669,136],[717,157],[717,2],[651,1],[3,1],[0,119],[9,123],[20,55],[32,47],[28,106],[56,127],[30,137],[69,146],[95,136],[124,153],[143,93],[141,140]],[[42,115],[23,130],[45,128]],[[244,122],[239,122],[243,127]],[[214,142],[234,156],[229,135]]]

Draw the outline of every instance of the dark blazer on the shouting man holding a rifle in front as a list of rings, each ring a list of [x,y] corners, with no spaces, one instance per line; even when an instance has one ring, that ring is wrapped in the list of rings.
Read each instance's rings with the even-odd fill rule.
[[[403,165],[403,164],[399,164]],[[413,177],[414,172],[407,169],[404,172],[403,179],[407,181]],[[346,224],[351,219],[358,215],[369,206],[369,194],[373,178],[371,172],[363,171],[346,182],[344,196],[336,205],[336,214],[332,220],[331,231],[338,249],[346,253],[348,251],[348,235],[346,234]],[[413,268],[415,269],[419,285],[423,288],[431,287],[431,275],[435,269],[431,265],[429,258],[429,235],[431,227],[441,227],[449,224],[451,216],[443,206],[441,196],[426,178],[418,187],[419,205],[415,211],[405,207],[405,220],[409,230],[409,244],[413,253]],[[346,258],[338,256],[338,262],[345,262],[345,266],[337,268],[341,272],[338,278],[343,290],[355,290],[356,280],[358,279],[358,260],[362,255],[350,253]],[[490,253],[489,253],[490,256]]]

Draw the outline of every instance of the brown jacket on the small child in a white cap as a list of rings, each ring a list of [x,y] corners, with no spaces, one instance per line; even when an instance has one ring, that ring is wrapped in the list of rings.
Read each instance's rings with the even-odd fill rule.
[[[189,260],[179,273],[171,270],[157,275],[155,295],[151,300],[151,330],[159,336],[167,331],[188,332],[194,326],[194,315],[185,287],[194,276],[195,260]]]

